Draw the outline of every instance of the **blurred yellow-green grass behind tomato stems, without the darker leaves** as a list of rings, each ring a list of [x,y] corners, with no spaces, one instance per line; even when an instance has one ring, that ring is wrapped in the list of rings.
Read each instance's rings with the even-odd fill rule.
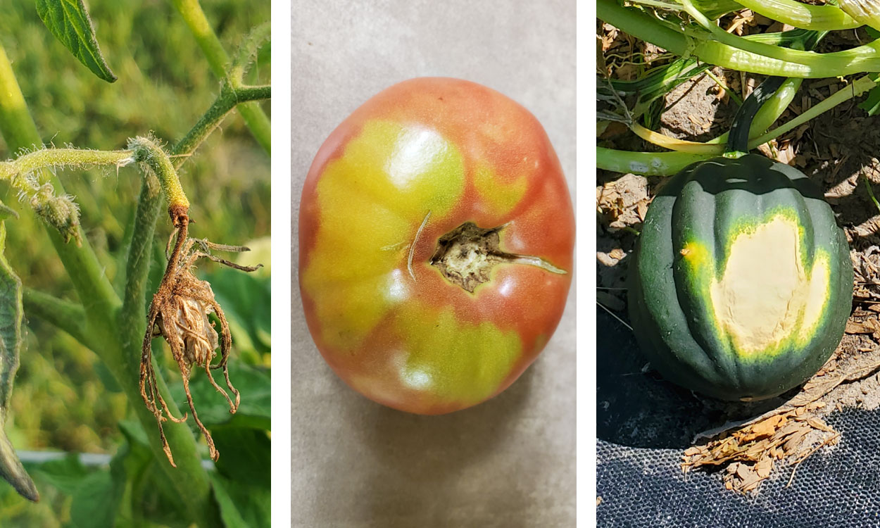
[[[129,136],[151,131],[174,143],[219,92],[219,83],[187,26],[169,1],[89,0],[87,6],[101,50],[119,77],[114,84],[93,76],[55,40],[37,17],[33,2],[4,3],[0,42],[43,141],[114,150],[124,148]],[[230,54],[270,14],[268,1],[203,0],[202,9]],[[250,82],[270,81],[269,52],[269,46],[260,51]],[[269,112],[268,103],[264,109]],[[0,158],[14,156],[0,138]],[[140,173],[126,167],[118,172],[64,171],[60,176],[81,208],[84,235],[111,281],[121,286],[126,227],[136,209]],[[187,161],[180,180],[192,202],[192,236],[225,244],[253,245],[256,241],[255,246],[266,249],[251,259],[257,257],[268,266],[269,157],[238,114],[227,117],[222,128]],[[18,202],[8,187],[0,186],[0,198],[20,216],[6,223],[6,255],[22,282],[76,300],[44,228],[26,203]],[[157,253],[159,246],[164,249],[171,231],[163,214],[157,228]],[[216,265],[205,265],[202,270],[216,272]],[[263,274],[268,275],[268,270]],[[215,291],[223,289],[215,286]],[[223,304],[219,295],[218,300]],[[18,450],[112,454],[122,439],[117,423],[128,412],[124,396],[113,392],[113,380],[91,350],[39,319],[28,318],[26,324],[26,348],[5,424],[12,443]],[[242,341],[235,334],[233,338],[239,344]],[[246,356],[247,363],[268,364],[268,348],[253,343],[245,348],[233,350],[233,355]],[[160,355],[167,356],[166,350],[163,345]],[[14,492],[8,495],[10,489],[0,482],[0,512],[12,515],[6,509],[27,505]],[[0,518],[13,517],[0,514]],[[33,525],[55,524],[40,521]]]

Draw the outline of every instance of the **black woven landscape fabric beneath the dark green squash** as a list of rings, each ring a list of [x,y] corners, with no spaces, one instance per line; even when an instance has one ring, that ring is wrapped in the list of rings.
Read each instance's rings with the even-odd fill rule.
[[[722,424],[693,395],[646,370],[632,332],[598,308],[597,521],[612,527],[880,527],[880,411],[844,409],[842,433],[797,468],[779,465],[757,495],[722,472],[681,472],[682,451]],[[646,370],[646,371],[643,371]]]

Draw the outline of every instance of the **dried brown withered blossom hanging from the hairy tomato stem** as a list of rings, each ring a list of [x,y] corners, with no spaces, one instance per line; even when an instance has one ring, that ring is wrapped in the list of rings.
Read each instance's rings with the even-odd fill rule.
[[[239,266],[230,260],[224,260],[211,254],[211,250],[241,252],[248,251],[248,248],[243,246],[224,246],[213,244],[207,240],[188,238],[189,217],[187,216],[187,211],[185,209],[175,209],[171,208],[169,210],[175,231],[168,242],[168,247],[170,248],[173,239],[174,246],[168,256],[165,275],[162,277],[162,282],[159,283],[158,290],[153,295],[152,302],[150,303],[147,331],[143,336],[141,354],[141,396],[147,408],[156,416],[163,450],[172,466],[175,466],[174,458],[165,439],[162,422],[165,422],[167,419],[172,420],[172,422],[184,422],[187,420],[187,414],[180,418],[173,416],[158,391],[156,372],[153,370],[152,364],[151,341],[153,337],[161,335],[165,338],[169,348],[171,348],[172,357],[177,362],[181,378],[183,378],[183,388],[187,395],[189,410],[193,414],[193,419],[196,425],[198,425],[199,430],[202,431],[205,442],[208,444],[210,457],[216,460],[219,457],[219,452],[216,450],[209,430],[199,420],[199,415],[195,411],[192,393],[189,391],[189,377],[193,367],[201,368],[205,371],[210,384],[214,386],[217,392],[223,394],[229,403],[231,414],[238,410],[240,395],[229,378],[228,362],[232,346],[229,324],[226,321],[223,309],[216,302],[209,282],[196,278],[192,270],[196,260],[203,257],[242,271],[255,271],[261,267],[260,265],[253,267]],[[214,313],[220,321],[220,334],[217,334],[216,328],[209,319],[210,313]],[[216,364],[212,364],[216,357],[216,348],[218,346],[220,348],[220,360]],[[232,397],[230,397],[229,392],[226,392],[226,389],[216,383],[211,374],[211,370],[216,369],[223,370],[226,388],[232,393]]]

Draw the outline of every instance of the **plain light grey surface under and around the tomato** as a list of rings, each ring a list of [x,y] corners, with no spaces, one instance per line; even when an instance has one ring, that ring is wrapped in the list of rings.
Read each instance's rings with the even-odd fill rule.
[[[407,78],[460,77],[517,100],[546,128],[574,196],[575,4],[294,3],[292,525],[574,525],[574,285],[553,339],[510,389],[465,411],[417,416],[336,378],[309,336],[296,274],[312,157],[357,106]]]

